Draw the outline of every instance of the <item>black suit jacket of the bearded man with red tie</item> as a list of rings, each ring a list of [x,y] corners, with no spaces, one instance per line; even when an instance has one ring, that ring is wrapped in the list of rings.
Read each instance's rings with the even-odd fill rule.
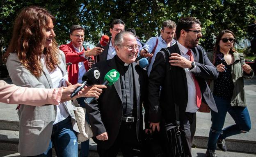
[[[178,44],[166,48],[170,53],[181,52]],[[208,106],[217,112],[217,107],[210,92],[210,88],[206,83],[206,79],[217,79],[218,71],[210,62],[206,53],[201,46],[192,49],[196,71],[193,72],[199,83],[202,100]],[[149,121],[160,122],[164,119],[165,122],[175,122],[174,101],[179,106],[179,115],[182,119],[185,116],[187,107],[188,92],[187,78],[183,68],[171,66],[169,64],[170,54],[165,49],[161,49],[155,57],[155,62],[149,76]],[[161,94],[159,95],[160,86],[162,86]]]

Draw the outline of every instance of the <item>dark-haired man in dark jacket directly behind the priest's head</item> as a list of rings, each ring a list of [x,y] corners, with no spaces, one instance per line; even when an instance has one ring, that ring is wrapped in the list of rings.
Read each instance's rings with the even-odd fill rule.
[[[110,24],[110,33],[111,33],[111,38],[110,42],[107,43],[106,46],[103,46],[103,52],[100,53],[99,55],[96,56],[96,62],[100,62],[103,60],[110,60],[116,55],[116,50],[114,47],[114,39],[117,33],[123,32],[125,28],[125,24],[122,20],[120,19],[115,19],[112,21]],[[101,45],[98,44],[97,47],[100,47]]]

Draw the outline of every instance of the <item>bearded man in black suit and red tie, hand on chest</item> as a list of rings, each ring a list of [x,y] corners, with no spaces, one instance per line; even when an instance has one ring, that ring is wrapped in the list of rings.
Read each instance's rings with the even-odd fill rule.
[[[178,104],[184,154],[191,157],[196,112],[201,102],[206,102],[217,112],[206,79],[217,79],[218,71],[198,45],[202,37],[199,20],[181,18],[176,27],[176,36],[176,44],[156,55],[149,76],[149,127],[161,132],[165,124],[175,124],[174,102]]]

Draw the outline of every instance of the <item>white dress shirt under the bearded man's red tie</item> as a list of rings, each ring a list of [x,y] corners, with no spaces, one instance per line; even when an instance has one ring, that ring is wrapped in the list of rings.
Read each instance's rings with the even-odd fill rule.
[[[187,55],[188,49],[182,44],[180,44],[179,42],[177,42],[177,44],[178,44],[178,48],[180,49],[181,55],[185,57],[187,60],[190,60],[190,56]],[[192,49],[190,49],[190,51],[192,52],[192,55],[195,56]],[[187,77],[187,94],[188,94],[186,112],[190,112],[190,113],[195,113],[198,110],[196,85],[194,83],[194,79],[192,76],[192,71],[196,71],[196,64],[194,65],[195,65],[194,68],[191,70],[188,68],[184,68],[186,72],[186,77]]]

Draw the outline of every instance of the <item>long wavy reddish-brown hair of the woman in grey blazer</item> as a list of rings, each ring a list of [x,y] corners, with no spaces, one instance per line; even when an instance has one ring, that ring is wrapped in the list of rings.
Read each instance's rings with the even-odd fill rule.
[[[55,21],[54,16],[46,9],[34,6],[23,9],[15,20],[11,42],[3,57],[4,62],[7,62],[10,53],[17,53],[25,68],[39,77],[42,73],[40,59],[44,55],[47,69],[53,71],[59,64],[57,42],[53,39],[53,46],[44,48],[50,19]]]

